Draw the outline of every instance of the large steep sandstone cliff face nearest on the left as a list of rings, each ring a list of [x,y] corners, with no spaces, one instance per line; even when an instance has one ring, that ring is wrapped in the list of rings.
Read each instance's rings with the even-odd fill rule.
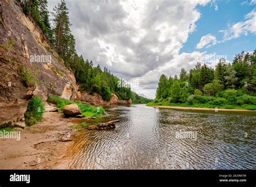
[[[0,46],[5,47],[0,47],[0,128],[18,123],[36,95],[43,100],[49,94],[73,99],[76,86],[74,75],[19,3],[2,0],[1,9]],[[35,85],[24,85],[21,67],[35,76]]]

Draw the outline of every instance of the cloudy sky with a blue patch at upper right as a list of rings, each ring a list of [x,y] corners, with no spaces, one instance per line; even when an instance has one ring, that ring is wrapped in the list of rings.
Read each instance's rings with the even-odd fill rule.
[[[60,0],[48,0],[49,11]],[[161,74],[197,62],[215,67],[256,47],[256,0],[66,0],[76,49],[84,59],[154,98]],[[216,60],[217,59],[217,60]],[[138,84],[136,84],[138,82]]]

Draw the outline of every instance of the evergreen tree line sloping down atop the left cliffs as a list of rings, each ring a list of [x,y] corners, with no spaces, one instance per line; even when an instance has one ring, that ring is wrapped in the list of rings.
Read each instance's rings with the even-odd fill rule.
[[[76,52],[76,40],[72,35],[69,20],[69,10],[64,0],[61,0],[53,9],[52,26],[47,9],[47,0],[20,0],[23,11],[30,15],[42,29],[46,38],[58,54],[63,58],[65,66],[75,74],[80,91],[99,93],[104,100],[110,100],[111,93],[116,93],[119,99],[132,99],[132,103],[148,103],[150,99],[138,96],[131,88],[119,88],[118,77],[111,74],[106,67],[102,70],[99,64],[93,66],[93,62],[84,60],[82,55]]]

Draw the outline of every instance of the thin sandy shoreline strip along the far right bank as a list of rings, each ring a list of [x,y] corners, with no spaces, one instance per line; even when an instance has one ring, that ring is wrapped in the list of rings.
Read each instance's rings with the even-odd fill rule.
[[[207,111],[215,111],[215,109],[212,108],[203,108],[203,107],[186,107],[186,106],[162,106],[162,105],[156,105],[152,106],[155,108],[163,108],[163,109],[178,109],[178,110],[207,110]],[[246,111],[246,112],[256,112],[256,110],[246,110],[246,109],[218,109],[218,111]]]

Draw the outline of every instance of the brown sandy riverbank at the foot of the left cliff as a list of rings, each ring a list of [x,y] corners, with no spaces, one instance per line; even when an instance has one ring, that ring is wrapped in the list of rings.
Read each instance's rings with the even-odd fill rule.
[[[0,139],[0,169],[66,169],[72,141],[59,139],[75,131],[58,112],[45,112],[43,120],[21,131],[21,140]]]

